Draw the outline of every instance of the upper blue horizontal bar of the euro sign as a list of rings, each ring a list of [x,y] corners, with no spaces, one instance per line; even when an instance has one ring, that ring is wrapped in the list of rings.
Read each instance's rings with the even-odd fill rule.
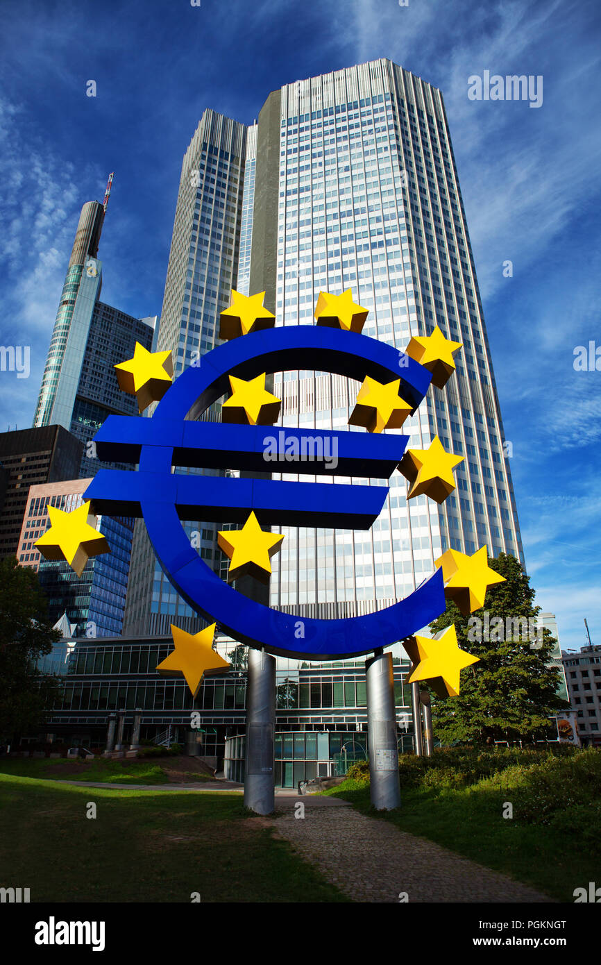
[[[143,446],[173,449],[172,465],[200,469],[389,479],[407,435],[312,428],[238,426],[109,416],[95,436],[106,462],[139,462]],[[316,495],[316,494],[315,494]]]

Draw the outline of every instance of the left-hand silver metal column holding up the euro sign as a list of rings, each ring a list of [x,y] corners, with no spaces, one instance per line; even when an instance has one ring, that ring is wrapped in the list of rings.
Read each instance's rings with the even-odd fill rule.
[[[249,648],[246,688],[244,806],[257,814],[271,814],[275,808],[275,657]]]

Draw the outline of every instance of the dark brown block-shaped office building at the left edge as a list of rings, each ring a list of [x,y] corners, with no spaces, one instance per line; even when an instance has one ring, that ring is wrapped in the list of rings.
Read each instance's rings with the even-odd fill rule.
[[[29,487],[77,476],[83,445],[62,426],[0,432],[0,557],[16,556]]]

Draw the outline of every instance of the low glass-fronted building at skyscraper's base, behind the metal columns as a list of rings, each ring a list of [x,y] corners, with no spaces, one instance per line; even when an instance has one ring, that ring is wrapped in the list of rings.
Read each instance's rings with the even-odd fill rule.
[[[150,741],[169,735],[188,753],[215,761],[242,760],[246,725],[246,654],[230,638],[215,648],[232,664],[227,674],[205,676],[193,700],[183,677],[164,677],[156,666],[173,650],[171,637],[103,637],[64,640],[41,659],[41,673],[63,678],[60,702],[49,713],[45,730],[54,740],[104,748],[109,714],[125,711],[124,742],[133,713],[142,710],[141,737]],[[277,658],[276,783],[343,773],[367,756],[366,658],[309,662]],[[410,688],[403,684],[409,661],[393,648],[399,750],[413,746]],[[232,757],[232,754],[236,756]],[[216,758],[216,759],[215,759]],[[341,770],[344,765],[343,770]],[[241,773],[232,763],[227,770]],[[235,779],[235,778],[234,778]]]

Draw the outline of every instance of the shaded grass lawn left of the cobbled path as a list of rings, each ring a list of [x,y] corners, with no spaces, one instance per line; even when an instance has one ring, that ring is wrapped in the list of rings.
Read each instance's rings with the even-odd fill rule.
[[[202,902],[346,901],[270,823],[235,793],[0,774],[0,886],[30,888],[32,902],[189,902],[193,892]]]

